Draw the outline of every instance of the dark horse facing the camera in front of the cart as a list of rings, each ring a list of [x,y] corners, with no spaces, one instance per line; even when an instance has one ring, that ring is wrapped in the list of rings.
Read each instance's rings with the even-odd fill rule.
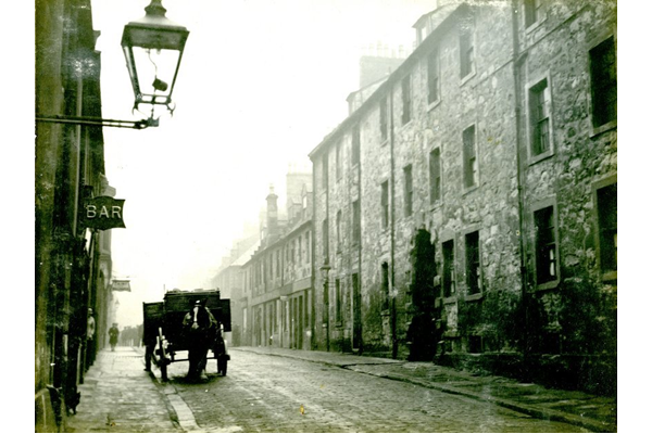
[[[184,317],[188,339],[188,380],[199,380],[206,363],[206,353],[214,340],[218,323],[211,310],[198,299]]]

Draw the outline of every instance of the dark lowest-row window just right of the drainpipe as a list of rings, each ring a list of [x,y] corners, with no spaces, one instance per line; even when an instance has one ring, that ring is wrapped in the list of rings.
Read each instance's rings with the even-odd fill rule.
[[[559,279],[554,207],[535,212],[537,284]]]

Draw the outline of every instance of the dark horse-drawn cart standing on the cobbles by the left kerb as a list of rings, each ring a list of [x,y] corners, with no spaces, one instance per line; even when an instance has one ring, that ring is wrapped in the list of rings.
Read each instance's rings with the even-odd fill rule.
[[[198,308],[208,309],[213,319],[202,326],[202,332],[192,324],[192,311],[197,322]],[[205,368],[206,358],[217,360],[217,373],[226,375],[227,353],[224,333],[230,332],[230,305],[228,298],[220,298],[220,291],[170,291],[163,302],[143,303],[143,344],[146,367],[151,362],[161,370],[161,378],[167,380],[167,366],[174,361],[189,361],[192,370],[192,352],[200,352],[199,370]],[[210,315],[209,315],[210,317]],[[213,357],[208,357],[209,349]],[[178,358],[178,352],[188,352],[188,358]],[[197,357],[197,356],[195,356]]]

